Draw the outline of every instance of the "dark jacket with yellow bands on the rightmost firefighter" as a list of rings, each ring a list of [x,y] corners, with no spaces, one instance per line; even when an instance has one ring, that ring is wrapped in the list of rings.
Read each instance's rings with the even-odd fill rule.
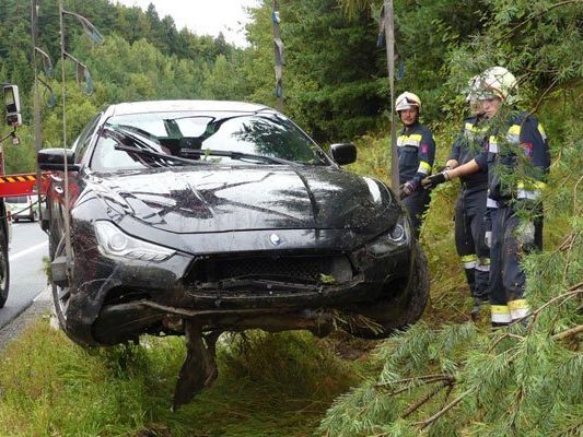
[[[521,113],[489,137],[488,153],[476,162],[488,169],[489,201],[501,206],[510,200],[536,200],[550,167],[545,130],[535,117]]]

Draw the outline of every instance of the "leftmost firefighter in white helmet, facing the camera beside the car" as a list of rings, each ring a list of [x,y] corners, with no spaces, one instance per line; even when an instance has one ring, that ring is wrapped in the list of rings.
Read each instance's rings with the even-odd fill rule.
[[[416,237],[422,224],[423,213],[429,206],[429,191],[421,187],[421,180],[431,175],[435,158],[435,142],[431,131],[419,123],[421,99],[405,92],[395,102],[403,130],[397,138],[399,158],[399,198],[411,218]]]

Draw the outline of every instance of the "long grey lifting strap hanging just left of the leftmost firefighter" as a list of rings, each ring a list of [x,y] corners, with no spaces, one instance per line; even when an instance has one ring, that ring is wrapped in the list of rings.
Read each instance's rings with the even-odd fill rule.
[[[388,67],[388,86],[390,87],[390,187],[399,187],[399,158],[397,155],[397,129],[395,127],[395,15],[393,0],[384,0],[383,26],[386,40],[386,57]]]

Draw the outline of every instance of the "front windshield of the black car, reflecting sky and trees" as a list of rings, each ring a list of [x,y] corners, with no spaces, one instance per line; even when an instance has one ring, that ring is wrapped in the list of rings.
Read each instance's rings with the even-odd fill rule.
[[[123,138],[112,131],[120,132]],[[114,116],[101,131],[91,167],[112,172],[161,165],[160,158],[144,158],[144,153],[135,153],[128,146],[187,158],[162,160],[164,165],[187,165],[188,161],[193,165],[329,165],[310,137],[285,117],[271,113]]]

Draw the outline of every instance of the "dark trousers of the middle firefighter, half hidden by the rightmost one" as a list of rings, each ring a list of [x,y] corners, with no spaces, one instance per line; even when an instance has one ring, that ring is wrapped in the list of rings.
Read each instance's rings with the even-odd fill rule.
[[[489,298],[490,249],[483,240],[487,194],[486,188],[463,191],[455,203],[455,248],[476,302],[486,302]]]

